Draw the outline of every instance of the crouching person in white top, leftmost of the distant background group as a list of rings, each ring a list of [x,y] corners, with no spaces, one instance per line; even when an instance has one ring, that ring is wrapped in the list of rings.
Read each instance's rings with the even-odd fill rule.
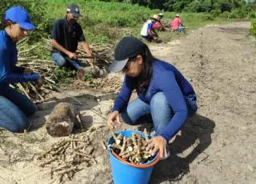
[[[155,22],[159,21],[157,14],[154,14],[150,20],[148,20],[142,27],[141,35],[142,38],[145,38],[148,42],[153,40],[158,40],[158,34],[155,32],[153,25]]]

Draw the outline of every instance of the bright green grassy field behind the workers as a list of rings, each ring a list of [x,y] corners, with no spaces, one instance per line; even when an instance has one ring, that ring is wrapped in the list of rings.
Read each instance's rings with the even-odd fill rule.
[[[42,27],[50,32],[51,25],[58,18],[66,15],[66,6],[71,2],[78,4],[82,17],[78,22],[82,25],[88,42],[116,42],[125,35],[132,34],[140,38],[142,25],[150,15],[161,10],[150,10],[144,6],[131,5],[122,2],[99,2],[84,0],[46,0],[46,24]],[[170,23],[175,12],[165,12],[164,19]],[[206,24],[227,22],[226,18],[214,18],[210,14],[182,13],[180,14],[186,27],[197,29]],[[160,37],[172,39],[176,34],[160,33]]]

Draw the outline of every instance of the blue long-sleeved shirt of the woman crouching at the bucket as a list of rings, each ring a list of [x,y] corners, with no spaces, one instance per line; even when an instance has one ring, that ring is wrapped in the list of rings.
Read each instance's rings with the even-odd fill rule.
[[[128,105],[130,95],[135,89],[135,83],[138,78],[125,76],[122,89],[114,102],[113,110],[122,111]],[[185,98],[196,101],[196,95],[190,82],[181,74],[181,72],[173,65],[162,62],[158,59],[154,60],[153,74],[146,93],[138,93],[138,98],[143,102],[150,104],[154,94],[162,92],[166,96],[166,100],[174,112],[166,130],[161,133],[162,137],[169,141],[170,138],[177,133],[178,127],[181,127],[188,118],[188,109]]]

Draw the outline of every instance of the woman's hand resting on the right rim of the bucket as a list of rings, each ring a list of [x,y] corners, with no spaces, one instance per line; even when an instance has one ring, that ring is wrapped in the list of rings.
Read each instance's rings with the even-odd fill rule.
[[[161,135],[158,135],[154,138],[151,138],[148,141],[149,145],[147,146],[147,150],[153,150],[152,151],[152,155],[156,154],[157,151],[159,150],[159,155],[160,158],[166,156],[167,152],[166,152],[166,146],[167,146],[167,142],[166,139],[163,138]]]

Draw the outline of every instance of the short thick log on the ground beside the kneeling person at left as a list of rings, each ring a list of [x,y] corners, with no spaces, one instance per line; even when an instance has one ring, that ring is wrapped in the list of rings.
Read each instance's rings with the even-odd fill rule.
[[[54,106],[47,118],[46,130],[51,136],[67,136],[76,125],[82,125],[80,110],[73,104],[61,102]]]

